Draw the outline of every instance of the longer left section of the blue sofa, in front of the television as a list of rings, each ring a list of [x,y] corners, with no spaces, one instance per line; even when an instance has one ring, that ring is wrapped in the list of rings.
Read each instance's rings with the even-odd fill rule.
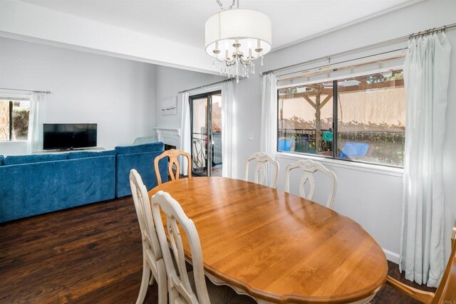
[[[0,222],[115,197],[113,150],[0,159]]]

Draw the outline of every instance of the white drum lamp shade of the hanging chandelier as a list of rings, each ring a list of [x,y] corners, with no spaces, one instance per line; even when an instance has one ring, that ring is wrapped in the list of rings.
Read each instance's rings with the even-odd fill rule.
[[[218,57],[232,56],[233,46],[238,40],[239,51],[245,57],[263,56],[271,51],[271,19],[259,11],[250,9],[229,9],[220,11],[206,21],[206,53]],[[262,49],[261,52],[255,51]]]

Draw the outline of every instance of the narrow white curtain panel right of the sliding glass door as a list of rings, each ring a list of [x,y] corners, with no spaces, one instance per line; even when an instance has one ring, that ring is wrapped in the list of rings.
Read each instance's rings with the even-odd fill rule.
[[[236,177],[236,115],[234,114],[234,83],[222,83],[222,176]]]

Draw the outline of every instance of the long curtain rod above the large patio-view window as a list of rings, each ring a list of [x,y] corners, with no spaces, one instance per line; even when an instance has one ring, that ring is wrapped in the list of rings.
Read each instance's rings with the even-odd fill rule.
[[[349,53],[356,53],[358,51],[363,51],[363,50],[366,50],[368,48],[374,48],[375,46],[383,46],[385,44],[390,44],[390,43],[397,42],[397,41],[402,41],[402,40],[405,40],[405,39],[411,39],[411,38],[415,38],[415,37],[426,36],[426,35],[429,35],[430,33],[437,33],[439,31],[445,32],[447,29],[455,28],[455,27],[456,27],[456,23],[451,23],[451,24],[449,24],[447,26],[440,26],[438,28],[428,29],[427,31],[419,31],[418,33],[411,33],[410,35],[405,35],[405,36],[401,36],[401,37],[398,37],[398,38],[393,38],[393,39],[390,39],[390,40],[369,44],[368,46],[361,46],[359,48],[353,48],[353,50],[348,50],[348,51],[343,51],[343,52],[339,52],[339,53],[334,53],[332,55],[311,59],[309,61],[303,61],[301,63],[295,63],[295,64],[292,64],[292,65],[287,65],[287,66],[284,66],[283,68],[276,68],[275,70],[266,70],[266,71],[260,73],[259,75],[260,76],[264,76],[266,74],[277,72],[279,70],[288,70],[289,68],[294,68],[294,67],[299,66],[299,65],[305,65],[305,64],[309,64],[309,63],[322,61],[324,59],[327,59],[328,61],[331,61],[331,58],[333,58],[333,57],[338,57],[338,56],[346,55],[346,54],[349,54]],[[389,53],[389,52],[385,52],[385,53]],[[380,55],[380,54],[375,54],[375,55]],[[375,56],[375,55],[373,55],[373,56]],[[357,60],[357,59],[361,59],[361,58],[356,58],[356,59],[353,59],[353,60]]]

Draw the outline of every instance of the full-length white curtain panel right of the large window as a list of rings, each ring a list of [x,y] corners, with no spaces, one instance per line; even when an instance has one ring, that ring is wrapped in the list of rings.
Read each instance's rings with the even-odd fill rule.
[[[400,268],[408,280],[430,287],[437,287],[445,267],[442,158],[450,51],[445,33],[413,39],[404,63],[407,120]]]

